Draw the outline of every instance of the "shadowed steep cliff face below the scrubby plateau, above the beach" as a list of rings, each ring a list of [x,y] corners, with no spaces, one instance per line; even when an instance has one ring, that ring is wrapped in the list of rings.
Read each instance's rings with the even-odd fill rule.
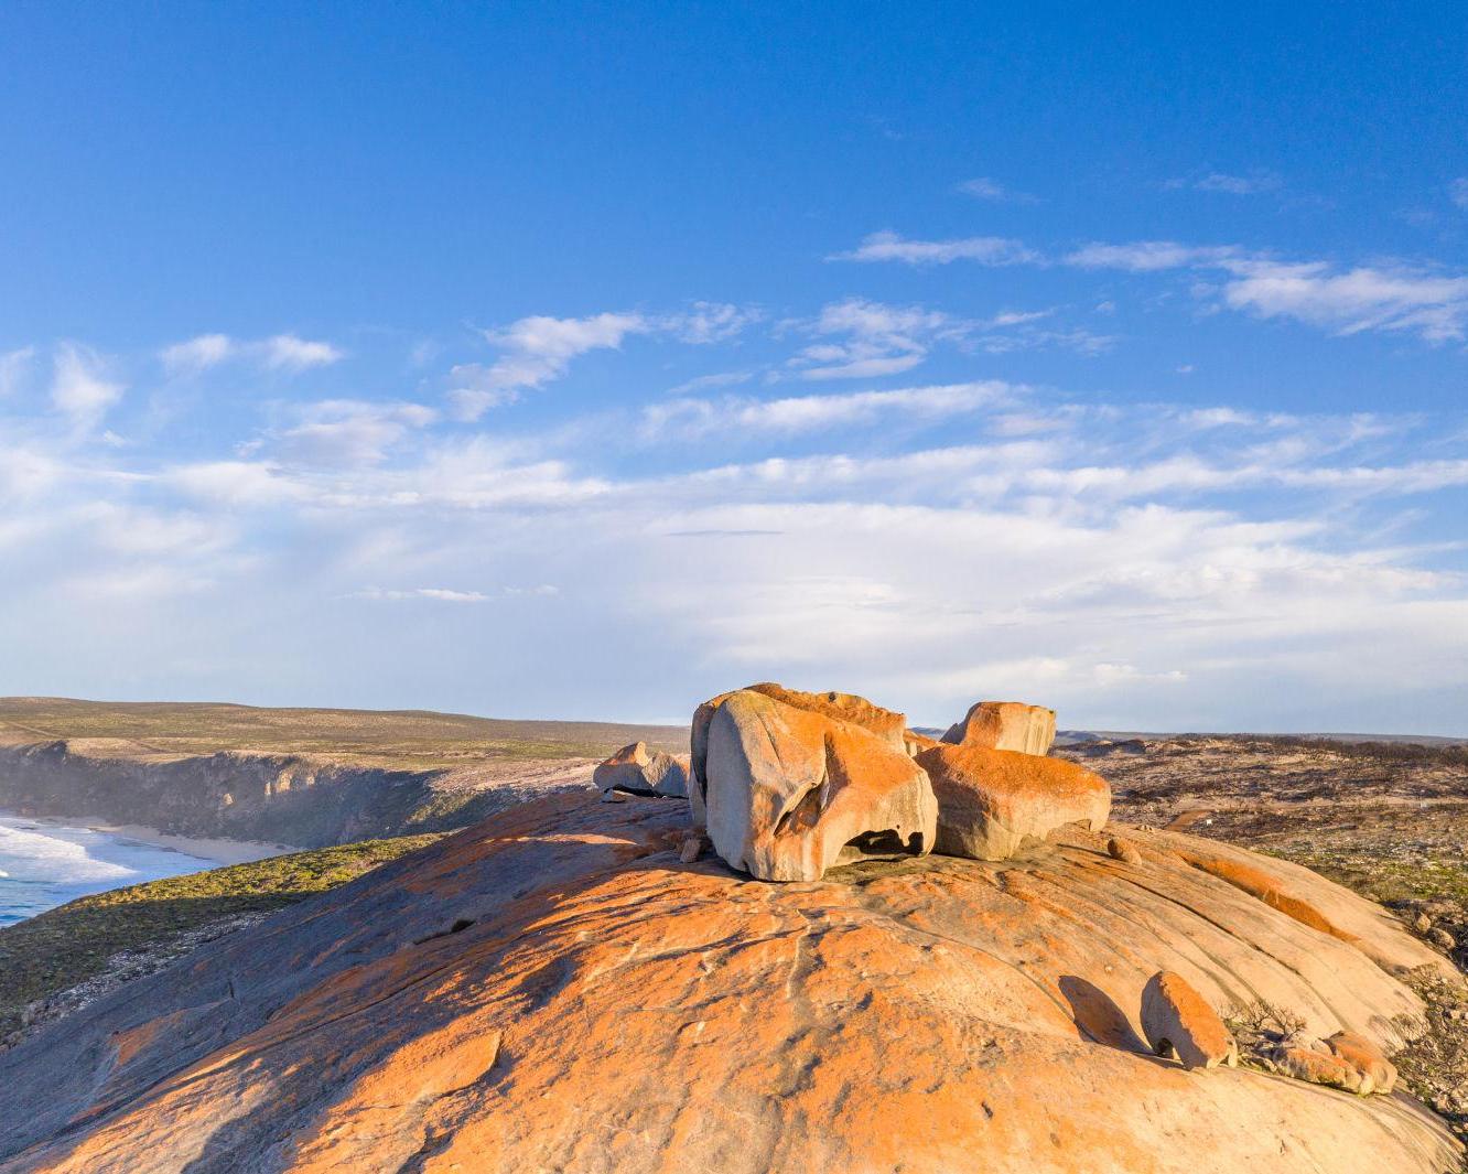
[[[101,817],[175,835],[301,848],[459,828],[545,791],[581,788],[590,762],[498,770],[390,770],[295,754],[109,754],[91,740],[0,745],[0,809]]]

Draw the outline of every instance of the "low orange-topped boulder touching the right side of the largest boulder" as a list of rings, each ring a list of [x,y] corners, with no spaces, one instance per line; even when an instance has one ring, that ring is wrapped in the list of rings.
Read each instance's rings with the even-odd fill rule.
[[[1064,759],[942,743],[916,762],[938,797],[944,856],[1004,860],[1064,823],[1101,831],[1111,813],[1107,781]]]

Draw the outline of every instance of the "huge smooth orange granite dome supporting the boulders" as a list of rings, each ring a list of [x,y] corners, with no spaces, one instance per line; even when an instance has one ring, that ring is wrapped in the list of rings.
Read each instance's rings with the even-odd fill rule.
[[[1422,1011],[1356,945],[1186,864],[1199,841],[1127,832],[1135,866],[1066,829],[1023,861],[928,856],[762,885],[709,856],[680,864],[669,834],[684,823],[664,803],[520,807],[129,983],[0,1054],[0,1168],[1437,1174],[1458,1161],[1411,1102],[1155,1060],[1138,992],[1163,969],[1214,1007],[1293,1008],[1317,1036],[1395,1045],[1396,1017]],[[1376,954],[1452,974],[1380,908],[1308,873],[1289,886]]]

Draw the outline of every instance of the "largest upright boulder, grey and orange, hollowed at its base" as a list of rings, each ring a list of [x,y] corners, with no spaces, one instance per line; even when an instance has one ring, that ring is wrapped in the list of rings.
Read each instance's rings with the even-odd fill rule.
[[[863,723],[841,716],[853,713]],[[765,687],[719,699],[694,750],[713,850],[762,880],[932,851],[938,807],[903,729],[860,697]]]

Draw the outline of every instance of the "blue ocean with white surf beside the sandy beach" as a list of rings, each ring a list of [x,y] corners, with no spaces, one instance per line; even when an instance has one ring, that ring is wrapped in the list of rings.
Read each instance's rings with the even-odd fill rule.
[[[126,835],[0,814],[0,926],[91,892],[214,867]]]

